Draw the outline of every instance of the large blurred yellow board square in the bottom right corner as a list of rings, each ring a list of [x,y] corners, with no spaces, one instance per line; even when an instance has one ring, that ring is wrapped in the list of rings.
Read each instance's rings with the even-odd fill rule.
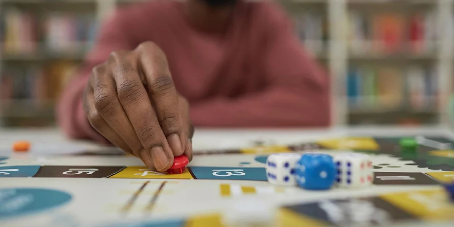
[[[380,198],[425,220],[454,218],[454,205],[442,189],[392,193]]]

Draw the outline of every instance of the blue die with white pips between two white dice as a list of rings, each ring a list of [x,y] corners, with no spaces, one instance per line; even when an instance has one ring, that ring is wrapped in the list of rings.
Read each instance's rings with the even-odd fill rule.
[[[327,190],[336,176],[334,160],[327,154],[303,154],[295,167],[298,185],[305,189]]]

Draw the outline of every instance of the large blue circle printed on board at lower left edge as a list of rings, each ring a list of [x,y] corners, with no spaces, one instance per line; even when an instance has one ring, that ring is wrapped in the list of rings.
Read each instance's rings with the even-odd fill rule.
[[[43,188],[0,188],[0,219],[42,212],[68,203],[66,192]]]

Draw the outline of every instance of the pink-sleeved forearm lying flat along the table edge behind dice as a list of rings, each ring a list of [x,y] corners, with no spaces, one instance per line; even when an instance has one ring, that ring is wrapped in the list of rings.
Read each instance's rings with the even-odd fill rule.
[[[191,106],[202,127],[325,127],[330,125],[329,92],[276,87],[237,99],[215,98]]]

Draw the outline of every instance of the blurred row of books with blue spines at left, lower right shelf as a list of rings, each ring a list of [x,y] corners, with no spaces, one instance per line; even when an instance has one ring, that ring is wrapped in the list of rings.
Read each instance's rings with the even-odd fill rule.
[[[348,70],[346,80],[348,103],[362,112],[410,113],[438,106],[435,67],[356,66]]]

